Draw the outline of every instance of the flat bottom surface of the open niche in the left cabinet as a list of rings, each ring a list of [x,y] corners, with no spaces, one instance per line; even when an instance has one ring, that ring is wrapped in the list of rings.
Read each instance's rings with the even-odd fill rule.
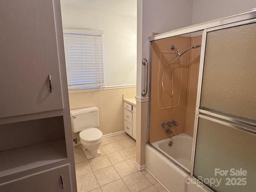
[[[66,159],[65,139],[0,152],[0,183],[6,181],[5,177],[15,178],[15,174],[56,164]]]

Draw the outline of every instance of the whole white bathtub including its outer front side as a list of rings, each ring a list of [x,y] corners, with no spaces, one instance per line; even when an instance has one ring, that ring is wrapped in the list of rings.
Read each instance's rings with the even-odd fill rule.
[[[168,142],[172,141],[171,147]],[[192,152],[192,137],[178,134],[151,144],[145,148],[146,170],[169,192],[209,192],[194,183],[188,173]]]

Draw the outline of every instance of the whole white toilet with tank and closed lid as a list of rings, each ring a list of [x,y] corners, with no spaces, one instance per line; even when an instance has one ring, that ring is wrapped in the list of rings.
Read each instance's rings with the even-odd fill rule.
[[[80,132],[80,141],[87,159],[100,155],[98,149],[103,140],[103,134],[96,128],[99,126],[98,111],[97,107],[70,110],[72,131]]]

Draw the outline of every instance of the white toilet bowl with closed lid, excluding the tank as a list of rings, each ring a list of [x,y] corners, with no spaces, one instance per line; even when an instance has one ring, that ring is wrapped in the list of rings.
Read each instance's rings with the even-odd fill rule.
[[[87,159],[100,156],[99,148],[103,140],[103,134],[99,129],[88,128],[81,131],[79,137]]]

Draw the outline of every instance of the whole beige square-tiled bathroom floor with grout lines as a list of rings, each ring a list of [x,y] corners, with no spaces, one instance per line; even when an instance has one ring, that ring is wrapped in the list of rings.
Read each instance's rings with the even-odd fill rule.
[[[134,166],[136,141],[127,134],[104,138],[101,156],[87,160],[74,147],[78,192],[166,192],[146,171]]]

